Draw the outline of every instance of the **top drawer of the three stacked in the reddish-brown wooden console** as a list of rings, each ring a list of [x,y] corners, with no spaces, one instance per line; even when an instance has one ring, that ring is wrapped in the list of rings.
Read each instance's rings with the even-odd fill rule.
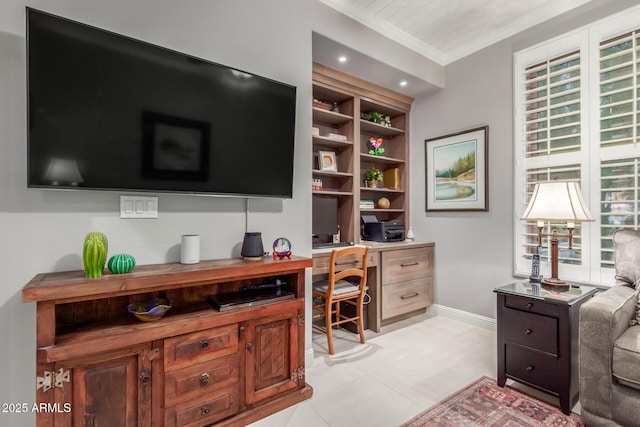
[[[167,338],[164,340],[165,371],[185,368],[237,351],[237,323]]]

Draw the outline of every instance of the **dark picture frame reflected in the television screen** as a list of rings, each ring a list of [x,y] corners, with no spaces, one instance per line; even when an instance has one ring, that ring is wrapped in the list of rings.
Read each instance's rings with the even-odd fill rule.
[[[145,177],[209,179],[209,123],[152,112],[142,122]]]

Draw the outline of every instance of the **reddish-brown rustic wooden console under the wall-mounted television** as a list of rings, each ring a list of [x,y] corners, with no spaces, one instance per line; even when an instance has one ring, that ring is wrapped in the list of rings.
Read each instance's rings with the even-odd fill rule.
[[[138,266],[86,279],[36,275],[38,426],[241,426],[311,397],[304,380],[305,268],[311,259],[225,259]],[[285,280],[292,299],[229,311],[213,294]],[[143,323],[127,304],[168,298]],[[57,406],[56,406],[57,405]]]

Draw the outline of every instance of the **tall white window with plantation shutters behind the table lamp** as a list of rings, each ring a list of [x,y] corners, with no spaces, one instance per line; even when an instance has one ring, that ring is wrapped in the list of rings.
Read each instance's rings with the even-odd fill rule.
[[[535,253],[547,262],[538,224],[520,216],[536,183],[558,179],[580,183],[596,219],[576,224],[573,249],[560,239],[560,277],[614,282],[611,236],[640,228],[639,61],[640,7],[514,56],[516,274]]]

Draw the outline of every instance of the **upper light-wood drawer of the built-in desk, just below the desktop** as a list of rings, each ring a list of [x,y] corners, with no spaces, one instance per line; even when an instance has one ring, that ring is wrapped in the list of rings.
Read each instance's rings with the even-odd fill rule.
[[[433,248],[399,249],[382,253],[382,283],[404,282],[433,275]]]

